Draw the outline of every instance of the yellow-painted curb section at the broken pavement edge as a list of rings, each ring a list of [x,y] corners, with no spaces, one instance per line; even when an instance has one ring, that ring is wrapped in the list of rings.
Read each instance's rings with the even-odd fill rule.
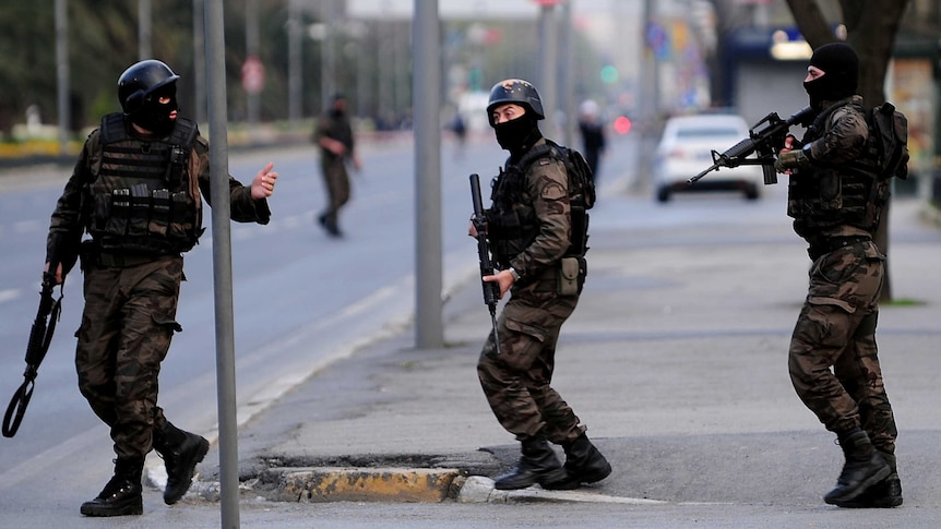
[[[428,468],[286,469],[281,476],[277,500],[440,503],[458,476],[456,469]]]

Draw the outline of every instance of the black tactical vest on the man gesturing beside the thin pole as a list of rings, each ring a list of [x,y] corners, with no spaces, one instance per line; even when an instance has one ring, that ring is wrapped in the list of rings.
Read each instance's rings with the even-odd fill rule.
[[[145,142],[128,133],[122,115],[102,119],[102,151],[90,160],[88,232],[103,251],[165,255],[195,245],[202,201],[189,161],[198,133],[178,118],[169,136]]]

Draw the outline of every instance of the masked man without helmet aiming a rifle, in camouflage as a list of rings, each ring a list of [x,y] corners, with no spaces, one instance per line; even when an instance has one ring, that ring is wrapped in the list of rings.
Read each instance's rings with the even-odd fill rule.
[[[824,501],[895,507],[902,504],[897,431],[876,347],[885,257],[872,241],[889,182],[879,176],[857,76],[849,46],[813,52],[803,84],[819,113],[800,142],[788,136],[776,164],[791,175],[788,215],[813,261],[788,365],[798,396],[845,455]]]

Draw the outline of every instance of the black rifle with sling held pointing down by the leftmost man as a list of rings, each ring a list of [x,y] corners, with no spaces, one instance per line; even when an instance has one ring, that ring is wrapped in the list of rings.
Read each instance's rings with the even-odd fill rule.
[[[39,364],[46,358],[49,344],[52,341],[52,333],[56,330],[56,323],[59,321],[59,314],[62,312],[61,285],[59,286],[59,298],[52,298],[52,290],[56,288],[56,268],[58,267],[58,261],[50,260],[49,269],[43,273],[43,287],[39,291],[39,310],[36,313],[36,320],[33,322],[33,328],[29,329],[29,341],[26,345],[26,371],[23,373],[23,384],[13,394],[10,406],[7,407],[7,413],[3,416],[4,437],[12,437],[16,434],[16,430],[20,429],[20,423],[26,413],[26,406],[29,405],[29,399],[33,398],[34,381],[39,372]],[[65,270],[63,269],[64,273]]]

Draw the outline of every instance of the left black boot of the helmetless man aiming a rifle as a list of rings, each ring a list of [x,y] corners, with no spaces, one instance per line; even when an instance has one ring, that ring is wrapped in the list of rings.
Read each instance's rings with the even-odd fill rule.
[[[837,437],[839,447],[846,456],[846,462],[836,480],[836,488],[823,496],[823,501],[831,505],[839,505],[857,498],[867,489],[892,473],[885,459],[872,447],[869,435],[861,429],[856,428],[837,434]]]

